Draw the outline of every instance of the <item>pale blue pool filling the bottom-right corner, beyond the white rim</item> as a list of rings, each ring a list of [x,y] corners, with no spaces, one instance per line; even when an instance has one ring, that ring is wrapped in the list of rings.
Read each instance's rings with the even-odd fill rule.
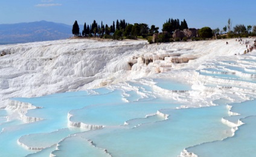
[[[199,156],[255,156],[256,150],[256,100],[243,103],[235,103],[232,112],[239,112],[241,115],[231,116],[237,121],[242,120],[243,124],[235,132],[234,137],[226,138],[223,141],[214,141],[190,147],[187,150]],[[231,120],[232,122],[232,120]],[[225,148],[225,149],[223,149]]]

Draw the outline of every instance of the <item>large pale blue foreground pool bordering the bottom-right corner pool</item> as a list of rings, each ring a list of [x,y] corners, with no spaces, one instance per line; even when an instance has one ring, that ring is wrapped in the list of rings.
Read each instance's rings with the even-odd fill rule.
[[[78,136],[91,137],[98,147],[104,147],[113,156],[178,156],[185,147],[230,135],[230,128],[221,122],[221,117],[227,115],[223,105],[162,112],[170,114],[168,120],[133,129],[106,128]]]

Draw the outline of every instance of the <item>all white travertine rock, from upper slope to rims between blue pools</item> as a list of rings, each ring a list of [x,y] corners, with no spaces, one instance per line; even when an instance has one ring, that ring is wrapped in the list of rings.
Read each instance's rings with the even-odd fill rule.
[[[250,39],[252,42],[254,39]],[[226,45],[226,42],[229,45]],[[214,105],[213,100],[225,97],[231,102],[249,100],[255,96],[256,72],[255,50],[242,54],[245,45],[239,45],[234,39],[174,42],[160,45],[147,45],[145,41],[104,41],[95,40],[59,40],[17,45],[1,45],[0,52],[0,108],[12,112],[9,119],[19,118],[24,123],[43,120],[28,117],[28,109],[39,109],[30,103],[8,100],[11,97],[34,97],[65,91],[88,90],[118,83],[135,81],[141,78],[180,79],[190,82],[191,91],[167,90],[141,79],[142,84],[152,87],[155,95],[173,97],[186,102],[179,108],[203,107]],[[230,61],[230,63],[229,63]],[[136,82],[136,81],[135,81]],[[136,91],[141,97],[148,95]],[[155,95],[154,95],[155,94]],[[235,94],[235,98],[232,97]],[[125,102],[129,102],[123,97]],[[228,106],[231,110],[231,106]],[[230,116],[239,113],[228,112]],[[158,115],[168,119],[161,109]],[[102,129],[105,126],[72,122],[73,115],[68,113],[68,127],[88,130]],[[231,126],[233,135],[243,122],[230,122],[225,117],[222,123]],[[125,123],[127,124],[127,122]],[[27,147],[41,150],[42,147]],[[53,156],[53,155],[52,155]],[[197,156],[187,152],[181,156]]]

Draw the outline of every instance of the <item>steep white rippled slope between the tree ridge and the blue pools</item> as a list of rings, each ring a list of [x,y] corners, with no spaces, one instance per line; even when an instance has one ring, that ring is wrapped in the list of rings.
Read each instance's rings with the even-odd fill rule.
[[[159,72],[186,78],[208,60],[242,54],[245,45],[234,39],[160,45],[142,40],[57,40],[2,45],[2,51],[7,55],[0,57],[0,108],[10,97],[85,90]]]

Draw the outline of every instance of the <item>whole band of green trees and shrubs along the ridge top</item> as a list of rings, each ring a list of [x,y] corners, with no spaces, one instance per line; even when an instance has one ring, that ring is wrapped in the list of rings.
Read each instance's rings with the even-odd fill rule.
[[[152,43],[153,34],[158,34],[157,40],[154,42],[178,42],[178,41],[187,41],[187,40],[205,40],[206,38],[232,38],[232,37],[248,37],[250,35],[256,35],[256,26],[248,25],[247,28],[245,25],[235,25],[232,29],[232,21],[228,19],[228,25],[225,25],[222,30],[219,28],[211,29],[210,27],[203,27],[197,29],[197,35],[193,37],[183,36],[175,37],[174,32],[179,29],[183,31],[188,29],[188,24],[184,19],[180,22],[179,19],[168,19],[162,25],[162,32],[159,33],[159,27],[152,25],[149,28],[149,25],[146,23],[127,23],[126,20],[117,20],[113,21],[112,25],[101,25],[94,20],[91,25],[83,26],[82,33],[80,32],[77,21],[75,20],[72,34],[75,37],[97,37],[97,38],[112,38],[116,40],[122,40],[123,38],[145,38]],[[228,32],[227,32],[228,31]],[[227,32],[227,34],[223,34]]]

